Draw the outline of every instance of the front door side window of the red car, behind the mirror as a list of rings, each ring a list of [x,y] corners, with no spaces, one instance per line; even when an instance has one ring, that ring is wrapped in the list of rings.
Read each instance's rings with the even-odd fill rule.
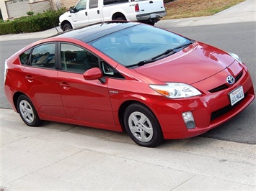
[[[62,43],[61,65],[62,70],[84,73],[92,67],[99,67],[99,59],[84,48]]]

